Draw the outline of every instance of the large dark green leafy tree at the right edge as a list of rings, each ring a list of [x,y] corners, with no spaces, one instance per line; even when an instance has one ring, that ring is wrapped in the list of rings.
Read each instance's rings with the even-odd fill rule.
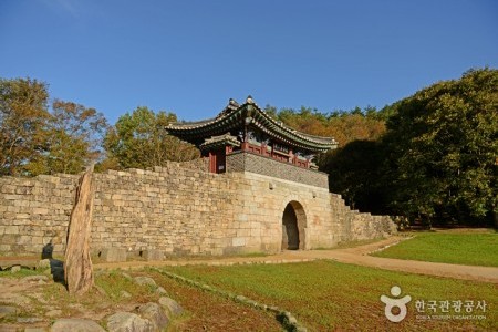
[[[468,71],[394,107],[384,137],[392,206],[427,224],[469,222],[496,212],[498,71]]]

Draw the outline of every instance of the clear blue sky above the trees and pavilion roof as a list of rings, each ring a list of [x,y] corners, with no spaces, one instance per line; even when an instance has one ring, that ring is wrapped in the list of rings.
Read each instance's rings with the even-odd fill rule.
[[[377,108],[498,68],[498,1],[0,1],[0,77],[104,113]]]

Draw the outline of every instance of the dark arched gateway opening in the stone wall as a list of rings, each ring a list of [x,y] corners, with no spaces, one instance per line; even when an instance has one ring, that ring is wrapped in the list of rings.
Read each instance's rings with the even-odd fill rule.
[[[304,228],[307,216],[299,201],[286,206],[282,216],[282,250],[304,249]]]

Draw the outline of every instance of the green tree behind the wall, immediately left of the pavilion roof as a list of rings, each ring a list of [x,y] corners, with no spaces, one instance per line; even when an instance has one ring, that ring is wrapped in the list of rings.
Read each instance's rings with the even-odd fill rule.
[[[155,114],[147,107],[137,107],[121,116],[104,139],[107,165],[120,168],[163,166],[167,160],[185,162],[199,156],[193,145],[168,135],[165,127],[176,122],[173,113]]]

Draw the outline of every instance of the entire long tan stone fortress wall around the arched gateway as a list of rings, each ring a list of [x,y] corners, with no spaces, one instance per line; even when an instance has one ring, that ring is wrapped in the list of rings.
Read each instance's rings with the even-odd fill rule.
[[[387,217],[352,211],[325,187],[250,172],[218,175],[170,163],[95,174],[95,181],[94,252],[277,252],[288,204],[298,216],[301,249],[395,231]],[[71,175],[0,178],[0,255],[40,255],[48,243],[63,252],[76,183]]]

